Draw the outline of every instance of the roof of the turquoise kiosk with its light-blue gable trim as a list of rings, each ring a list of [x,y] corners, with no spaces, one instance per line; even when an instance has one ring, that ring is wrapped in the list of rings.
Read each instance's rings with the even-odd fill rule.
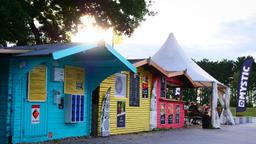
[[[1,48],[0,48],[1,49]],[[43,44],[33,46],[14,46],[2,48],[5,50],[26,50],[24,53],[18,53],[15,56],[47,56],[51,55],[54,60],[61,59],[73,54],[82,54],[81,60],[86,59],[92,61],[119,61],[131,71],[136,72],[136,68],[121,56],[111,46],[105,42],[99,43],[57,43],[57,44]],[[85,52],[86,51],[86,52]],[[81,53],[82,52],[82,53]],[[6,53],[10,54],[10,53]],[[86,64],[86,62],[83,62]],[[111,62],[110,64],[114,64]]]

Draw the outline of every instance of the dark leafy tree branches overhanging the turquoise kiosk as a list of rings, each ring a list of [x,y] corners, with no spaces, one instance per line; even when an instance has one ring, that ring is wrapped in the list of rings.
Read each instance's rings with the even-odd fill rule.
[[[70,41],[79,18],[89,15],[98,25],[130,36],[155,13],[151,0],[1,0],[0,45]]]

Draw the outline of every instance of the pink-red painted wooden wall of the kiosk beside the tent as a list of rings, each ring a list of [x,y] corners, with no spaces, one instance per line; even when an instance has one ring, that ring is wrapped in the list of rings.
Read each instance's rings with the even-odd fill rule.
[[[160,77],[155,77],[154,81],[157,82],[157,128],[181,128],[184,127],[184,102],[183,101],[174,101],[169,99],[164,99],[160,97]],[[161,104],[165,105],[165,124],[161,124],[160,112]],[[179,114],[179,123],[176,123],[176,107],[179,105],[180,114]],[[173,110],[170,109],[173,107]],[[172,124],[168,123],[168,116],[172,114]]]

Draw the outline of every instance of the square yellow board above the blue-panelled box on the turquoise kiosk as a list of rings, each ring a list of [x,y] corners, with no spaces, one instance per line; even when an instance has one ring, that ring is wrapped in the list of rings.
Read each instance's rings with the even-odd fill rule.
[[[84,69],[65,66],[64,93],[84,95]]]

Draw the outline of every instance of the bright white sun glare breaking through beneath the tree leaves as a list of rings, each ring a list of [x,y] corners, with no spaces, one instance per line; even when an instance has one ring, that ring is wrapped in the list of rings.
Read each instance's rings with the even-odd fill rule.
[[[103,29],[96,25],[95,19],[90,16],[81,18],[82,24],[78,26],[78,32],[71,36],[72,42],[98,42],[104,40],[112,42],[112,29]]]

